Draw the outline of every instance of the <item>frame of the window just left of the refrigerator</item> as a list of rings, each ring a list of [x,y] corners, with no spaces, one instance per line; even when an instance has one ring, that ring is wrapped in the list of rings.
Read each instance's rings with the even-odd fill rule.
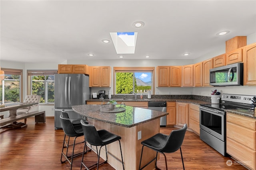
[[[58,70],[27,70],[27,94],[32,94],[32,76],[49,76],[57,74]],[[55,80],[54,80],[55,81]],[[46,82],[46,80],[45,80]],[[46,84],[45,84],[46,86]],[[47,96],[47,94],[46,94]],[[46,97],[45,96],[45,97]],[[40,103],[40,105],[54,105],[54,103]]]

